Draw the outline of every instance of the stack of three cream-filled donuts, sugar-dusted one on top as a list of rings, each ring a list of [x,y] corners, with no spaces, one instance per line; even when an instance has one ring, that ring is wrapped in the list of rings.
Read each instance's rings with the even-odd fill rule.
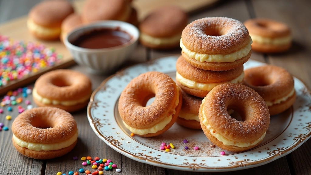
[[[217,85],[243,82],[251,44],[246,27],[227,17],[198,19],[184,28],[176,63],[176,83],[183,90],[179,125],[202,129],[198,109],[203,98]]]

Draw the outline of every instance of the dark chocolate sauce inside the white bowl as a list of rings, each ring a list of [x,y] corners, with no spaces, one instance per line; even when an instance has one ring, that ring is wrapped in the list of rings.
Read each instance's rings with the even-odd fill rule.
[[[102,28],[82,34],[72,44],[87,49],[103,49],[123,45],[131,39],[131,35],[118,28]]]

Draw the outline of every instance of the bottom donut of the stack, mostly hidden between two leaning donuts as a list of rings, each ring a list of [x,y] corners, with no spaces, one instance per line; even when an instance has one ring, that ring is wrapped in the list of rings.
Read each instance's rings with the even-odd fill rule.
[[[179,112],[176,123],[186,128],[201,130],[199,120],[199,108],[203,98],[195,97],[182,91],[183,105]]]

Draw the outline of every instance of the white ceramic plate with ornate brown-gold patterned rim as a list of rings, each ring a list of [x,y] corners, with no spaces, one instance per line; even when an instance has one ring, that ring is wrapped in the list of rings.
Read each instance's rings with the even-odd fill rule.
[[[118,113],[118,98],[124,87],[141,73],[159,71],[175,79],[175,63],[178,56],[168,56],[152,62],[137,64],[107,78],[92,94],[87,109],[90,125],[96,135],[119,153],[154,166],[198,172],[234,171],[257,167],[297,149],[311,135],[311,95],[297,78],[295,104],[280,115],[271,116],[270,126],[263,142],[256,148],[233,153],[211,148],[211,142],[202,130],[190,130],[175,123],[164,134],[152,138],[130,136]],[[244,69],[263,63],[248,60]],[[151,103],[149,100],[148,103]],[[148,104],[147,104],[148,105]],[[187,139],[188,144],[183,144]],[[160,150],[161,142],[173,143],[171,152]],[[185,150],[184,146],[189,149]],[[193,150],[198,146],[200,150]]]

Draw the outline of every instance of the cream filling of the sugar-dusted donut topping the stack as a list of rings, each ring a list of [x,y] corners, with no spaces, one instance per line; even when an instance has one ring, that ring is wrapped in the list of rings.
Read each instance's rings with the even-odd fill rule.
[[[225,62],[234,62],[235,60],[241,59],[248,55],[252,49],[252,39],[249,37],[248,43],[246,46],[240,50],[230,53],[230,54],[200,54],[191,50],[188,50],[184,45],[183,41],[180,39],[180,47],[182,51],[190,58],[196,59],[200,62],[216,62],[216,63],[225,63]]]

